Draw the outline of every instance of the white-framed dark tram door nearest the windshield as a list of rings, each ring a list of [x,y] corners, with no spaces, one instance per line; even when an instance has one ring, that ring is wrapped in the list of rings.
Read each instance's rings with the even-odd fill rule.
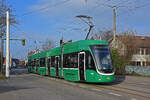
[[[78,57],[80,80],[85,81],[85,52],[80,52]]]

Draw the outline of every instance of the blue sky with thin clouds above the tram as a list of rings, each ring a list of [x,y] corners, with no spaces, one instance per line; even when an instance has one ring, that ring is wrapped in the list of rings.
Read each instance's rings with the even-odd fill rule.
[[[11,56],[26,58],[27,53],[47,39],[59,46],[59,39],[84,40],[88,25],[77,15],[91,16],[94,32],[113,28],[113,9],[117,6],[117,34],[135,30],[137,35],[150,35],[149,0],[7,0],[19,22],[11,26],[11,38],[25,38],[26,45],[11,41]],[[36,41],[36,42],[35,42]]]

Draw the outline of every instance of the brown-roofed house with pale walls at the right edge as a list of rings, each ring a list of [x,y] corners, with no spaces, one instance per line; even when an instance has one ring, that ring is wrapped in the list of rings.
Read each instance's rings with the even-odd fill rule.
[[[150,65],[150,37],[136,36],[136,50],[131,59],[131,64],[135,66]]]

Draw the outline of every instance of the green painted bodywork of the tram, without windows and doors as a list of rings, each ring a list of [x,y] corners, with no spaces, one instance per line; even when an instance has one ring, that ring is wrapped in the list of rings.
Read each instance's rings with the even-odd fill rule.
[[[106,41],[97,41],[97,40],[80,40],[77,42],[69,43],[64,45],[64,54],[73,53],[73,52],[80,52],[80,51],[89,51],[91,52],[90,45],[108,45]],[[50,50],[45,50],[40,53],[36,53],[30,55],[28,57],[29,60],[33,59],[40,59],[40,58],[47,58],[50,56],[60,56],[61,57],[61,46],[57,48],[53,48]],[[61,77],[61,61],[59,66],[59,77]],[[45,64],[46,66],[46,64]],[[48,69],[46,67],[40,67],[38,63],[38,71],[36,72],[36,68],[32,68],[31,66],[28,67],[29,72],[38,73],[40,75],[48,75]],[[85,79],[86,82],[112,82],[114,80],[114,75],[106,76],[100,75],[94,70],[86,70],[85,71]],[[50,76],[56,77],[56,69],[55,67],[50,68]],[[79,70],[76,69],[63,69],[63,78],[69,81],[80,81],[79,80]]]

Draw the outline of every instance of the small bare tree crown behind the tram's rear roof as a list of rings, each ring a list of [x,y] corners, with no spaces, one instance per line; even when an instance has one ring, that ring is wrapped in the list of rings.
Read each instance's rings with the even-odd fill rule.
[[[51,48],[54,48],[54,47],[55,47],[55,45],[54,45],[53,41],[51,41],[50,39],[47,39],[42,44],[42,50],[48,50],[48,49],[51,49]]]

